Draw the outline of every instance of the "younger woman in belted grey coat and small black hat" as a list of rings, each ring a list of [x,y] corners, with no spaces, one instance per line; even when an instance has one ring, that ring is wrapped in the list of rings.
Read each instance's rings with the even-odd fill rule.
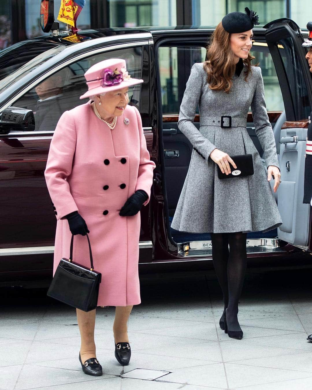
[[[269,184],[273,177],[276,192],[281,182],[275,139],[261,69],[250,64],[255,58],[250,49],[258,16],[248,8],[245,11],[231,12],[222,19],[212,36],[207,61],[191,69],[178,126],[194,148],[172,221],[176,230],[211,233],[213,264],[224,298],[220,327],[236,339],[243,337],[238,301],[246,270],[246,234],[282,224]],[[199,130],[193,124],[197,105]],[[247,133],[250,106],[268,172]],[[236,165],[230,156],[242,154],[252,154],[254,174],[219,179],[217,166],[231,175],[230,165],[232,170]]]

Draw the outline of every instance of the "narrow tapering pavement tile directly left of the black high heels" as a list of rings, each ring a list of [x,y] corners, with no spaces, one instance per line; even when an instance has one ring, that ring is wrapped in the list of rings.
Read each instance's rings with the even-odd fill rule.
[[[159,329],[145,329],[137,333],[165,335],[173,337],[185,337],[188,339],[199,340],[217,340],[216,324],[215,323],[200,323],[197,325],[188,325],[174,328],[159,328]]]

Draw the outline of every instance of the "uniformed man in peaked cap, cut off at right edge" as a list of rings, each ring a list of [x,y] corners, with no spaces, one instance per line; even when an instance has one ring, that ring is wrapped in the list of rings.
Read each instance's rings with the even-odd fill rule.
[[[312,73],[312,22],[307,24],[309,30],[309,37],[305,39],[302,46],[308,49],[305,56],[308,60],[310,72]],[[310,119],[312,118],[312,112],[310,113]],[[312,206],[312,123],[308,127],[307,147],[305,151],[305,184],[304,184],[304,195],[303,203],[311,203]],[[309,336],[310,337],[310,336]],[[311,339],[312,341],[312,339]]]

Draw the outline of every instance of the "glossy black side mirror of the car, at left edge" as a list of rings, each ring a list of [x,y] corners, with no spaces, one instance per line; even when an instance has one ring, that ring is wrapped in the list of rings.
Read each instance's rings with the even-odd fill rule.
[[[10,131],[33,131],[35,117],[32,110],[21,107],[7,107],[0,113],[0,134]]]

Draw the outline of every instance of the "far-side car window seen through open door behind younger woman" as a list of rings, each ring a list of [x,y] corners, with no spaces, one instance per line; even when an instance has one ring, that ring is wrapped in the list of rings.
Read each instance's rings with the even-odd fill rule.
[[[284,103],[271,54],[266,43],[254,43],[253,64],[261,67],[268,111],[283,111]],[[179,114],[185,85],[195,62],[204,62],[201,46],[160,46],[158,49],[163,115]],[[198,108],[197,108],[198,113]]]

